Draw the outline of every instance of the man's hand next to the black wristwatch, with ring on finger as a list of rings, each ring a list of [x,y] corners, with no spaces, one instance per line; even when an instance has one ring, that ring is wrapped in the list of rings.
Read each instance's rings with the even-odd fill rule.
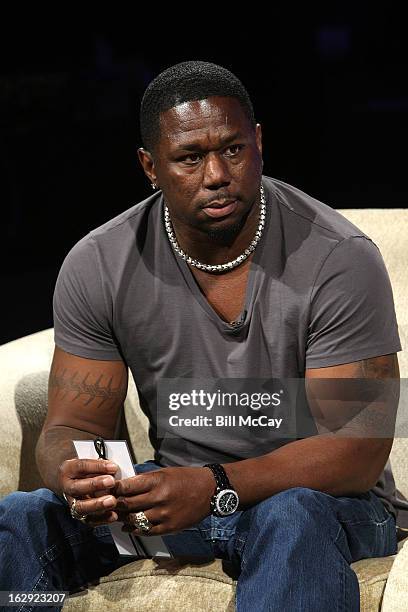
[[[203,467],[168,467],[119,480],[114,494],[124,530],[146,535],[134,526],[134,513],[144,511],[153,527],[148,535],[176,533],[210,514],[215,491],[211,470]]]

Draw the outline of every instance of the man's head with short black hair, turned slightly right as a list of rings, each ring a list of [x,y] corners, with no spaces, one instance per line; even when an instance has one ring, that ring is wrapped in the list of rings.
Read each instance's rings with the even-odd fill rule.
[[[239,232],[262,174],[261,129],[239,79],[208,62],[172,66],[148,86],[140,125],[140,161],[176,226]]]

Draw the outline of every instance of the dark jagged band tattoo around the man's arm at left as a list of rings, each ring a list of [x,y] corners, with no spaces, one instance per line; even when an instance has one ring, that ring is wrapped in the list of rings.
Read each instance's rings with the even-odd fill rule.
[[[70,391],[75,392],[76,394],[71,400],[73,402],[81,395],[84,395],[85,397],[88,397],[84,404],[85,406],[97,398],[102,398],[102,401],[98,406],[98,408],[100,408],[106,401],[114,401],[125,391],[123,381],[120,381],[118,387],[112,387],[113,376],[109,379],[107,384],[103,385],[101,384],[104,376],[103,374],[101,374],[94,383],[88,382],[90,372],[87,373],[83,380],[79,380],[77,378],[78,372],[74,372],[72,376],[66,376],[66,374],[66,369],[64,369],[62,372],[54,370],[51,371],[49,388],[56,389],[57,392],[60,390],[65,391],[62,399],[64,399]]]

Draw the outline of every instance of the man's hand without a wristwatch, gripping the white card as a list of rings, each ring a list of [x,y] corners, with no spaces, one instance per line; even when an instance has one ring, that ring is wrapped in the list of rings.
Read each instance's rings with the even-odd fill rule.
[[[113,509],[116,497],[112,495],[115,486],[113,474],[118,466],[101,459],[67,459],[59,468],[59,485],[70,504],[79,500],[75,509],[86,514],[90,527],[113,523],[118,515]]]

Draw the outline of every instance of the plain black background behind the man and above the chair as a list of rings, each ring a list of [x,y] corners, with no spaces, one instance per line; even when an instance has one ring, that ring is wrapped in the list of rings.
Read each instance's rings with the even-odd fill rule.
[[[51,326],[67,251],[151,193],[136,154],[139,103],[179,61],[213,61],[243,81],[265,174],[334,208],[406,207],[406,22],[392,3],[356,5],[278,3],[268,17],[190,5],[193,19],[173,12],[171,26],[156,5],[115,19],[3,21],[0,343]]]

